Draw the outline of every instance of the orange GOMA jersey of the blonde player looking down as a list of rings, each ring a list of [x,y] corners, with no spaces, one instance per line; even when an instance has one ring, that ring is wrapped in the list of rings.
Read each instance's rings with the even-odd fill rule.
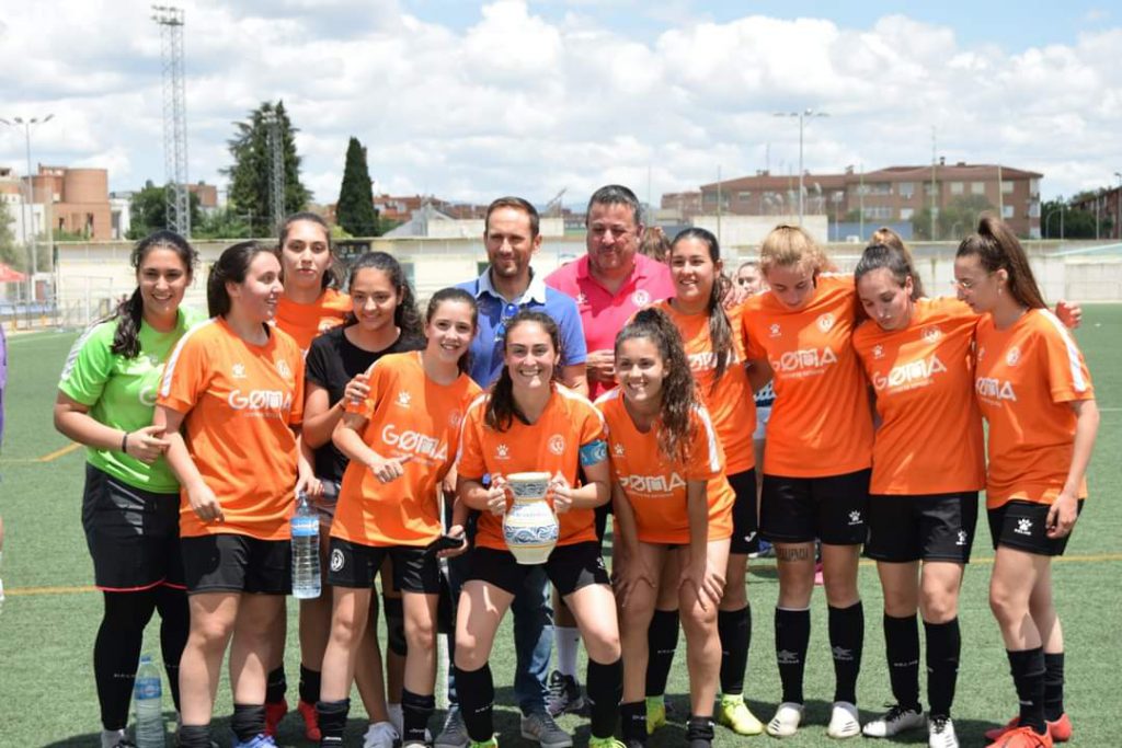
[[[853,278],[831,275],[818,276],[798,311],[772,292],[744,303],[747,355],[767,360],[775,389],[765,473],[820,478],[872,464],[873,418],[852,344],[856,306]]]

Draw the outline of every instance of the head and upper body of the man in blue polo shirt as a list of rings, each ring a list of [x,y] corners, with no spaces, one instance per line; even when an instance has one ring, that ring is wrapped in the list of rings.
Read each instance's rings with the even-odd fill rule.
[[[479,303],[471,343],[471,378],[484,388],[503,368],[506,323],[522,310],[545,312],[561,332],[561,381],[588,395],[585,332],[577,303],[535,276],[530,260],[542,247],[537,210],[522,197],[499,197],[487,207],[484,243],[490,262],[475,280],[458,284]]]

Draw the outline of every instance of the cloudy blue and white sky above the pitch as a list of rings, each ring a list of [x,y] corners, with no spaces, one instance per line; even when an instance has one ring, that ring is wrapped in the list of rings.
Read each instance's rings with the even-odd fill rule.
[[[174,1],[174,0],[171,0]],[[148,2],[4,2],[0,117],[54,119],[35,161],[164,178]],[[948,161],[1042,172],[1046,197],[1122,172],[1122,8],[691,0],[184,0],[190,177],[223,184],[232,122],[283,99],[303,178],[338,197],[349,136],[376,187],[576,204],[752,174]],[[1027,8],[1031,8],[1027,9]],[[751,15],[749,15],[751,13]],[[0,165],[25,170],[0,127]]]

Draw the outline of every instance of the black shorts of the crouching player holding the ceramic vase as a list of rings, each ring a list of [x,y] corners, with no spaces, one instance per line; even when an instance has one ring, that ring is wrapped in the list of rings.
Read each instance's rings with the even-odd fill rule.
[[[592,541],[559,545],[542,565],[562,598],[589,584],[610,583],[600,556],[600,545]],[[536,567],[519,564],[509,551],[476,547],[471,551],[468,580],[487,582],[511,594],[518,594],[526,576]]]

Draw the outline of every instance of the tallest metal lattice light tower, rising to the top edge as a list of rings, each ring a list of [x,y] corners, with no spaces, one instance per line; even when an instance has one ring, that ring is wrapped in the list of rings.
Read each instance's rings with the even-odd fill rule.
[[[153,6],[159,25],[164,70],[164,174],[167,179],[167,228],[191,237],[187,193],[187,96],[183,74],[183,10]]]

